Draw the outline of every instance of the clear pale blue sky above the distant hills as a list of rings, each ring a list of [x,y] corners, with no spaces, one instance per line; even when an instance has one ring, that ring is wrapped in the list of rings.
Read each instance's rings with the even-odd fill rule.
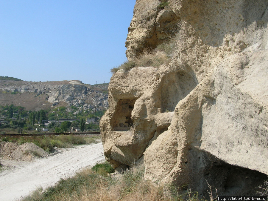
[[[0,76],[110,82],[135,0],[1,0]]]

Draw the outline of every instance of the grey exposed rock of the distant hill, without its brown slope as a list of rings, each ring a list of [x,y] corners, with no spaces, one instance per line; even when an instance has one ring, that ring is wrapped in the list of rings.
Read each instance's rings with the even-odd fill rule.
[[[55,81],[55,82],[24,82],[24,81],[5,81],[8,85],[0,86],[1,90],[14,92],[32,92],[36,95],[45,94],[46,100],[56,105],[59,102],[68,103],[69,107],[80,107],[84,109],[108,108],[108,95],[104,93],[106,86],[102,89],[92,87],[79,80]],[[85,105],[86,104],[86,105]],[[70,109],[70,108],[69,108]]]

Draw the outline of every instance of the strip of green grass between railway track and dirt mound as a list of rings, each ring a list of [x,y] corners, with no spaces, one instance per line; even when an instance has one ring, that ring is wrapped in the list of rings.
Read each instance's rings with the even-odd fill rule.
[[[50,153],[53,147],[68,148],[73,145],[96,143],[94,137],[81,137],[76,135],[49,135],[49,136],[21,136],[21,137],[2,137],[0,141],[13,142],[22,145],[31,142]]]

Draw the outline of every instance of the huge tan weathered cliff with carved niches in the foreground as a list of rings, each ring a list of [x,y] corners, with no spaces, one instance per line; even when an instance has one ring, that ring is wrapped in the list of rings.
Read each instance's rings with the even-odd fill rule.
[[[105,156],[115,168],[143,159],[145,178],[200,197],[207,183],[254,195],[268,175],[268,1],[168,2],[136,1],[128,59],[176,45],[169,65],[113,74]]]

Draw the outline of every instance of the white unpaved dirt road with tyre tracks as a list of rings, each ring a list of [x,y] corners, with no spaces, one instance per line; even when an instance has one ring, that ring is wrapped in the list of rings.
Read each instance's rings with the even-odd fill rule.
[[[37,187],[54,185],[60,178],[72,177],[79,169],[105,159],[102,143],[60,149],[59,152],[34,162],[1,159],[3,165],[13,167],[0,172],[0,200],[15,201]]]

